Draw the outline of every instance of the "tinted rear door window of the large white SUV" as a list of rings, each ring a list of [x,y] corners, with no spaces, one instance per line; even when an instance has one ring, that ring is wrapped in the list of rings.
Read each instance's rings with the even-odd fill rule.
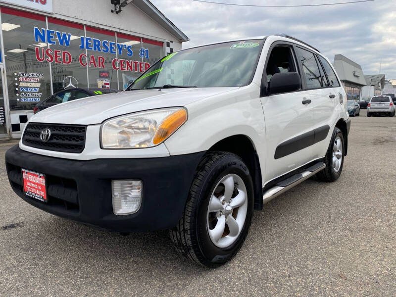
[[[305,49],[297,49],[298,59],[302,65],[302,72],[305,76],[307,89],[316,89],[322,87],[322,79],[320,77],[318,64],[315,55]]]

